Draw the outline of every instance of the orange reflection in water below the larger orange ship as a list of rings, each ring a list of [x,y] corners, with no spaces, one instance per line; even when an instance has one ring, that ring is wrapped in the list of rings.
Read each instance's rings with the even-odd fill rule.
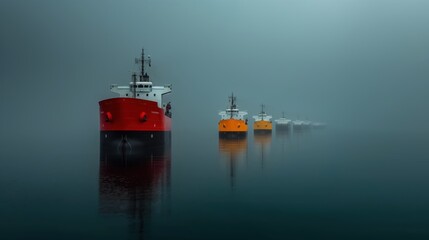
[[[219,152],[229,165],[231,187],[234,187],[236,165],[247,158],[247,137],[239,135],[219,135]]]

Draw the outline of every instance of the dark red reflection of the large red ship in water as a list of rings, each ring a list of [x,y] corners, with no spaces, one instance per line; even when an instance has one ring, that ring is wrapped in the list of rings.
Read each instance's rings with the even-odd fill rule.
[[[128,147],[100,148],[100,213],[126,217],[130,234],[143,238],[154,203],[168,200],[171,146]]]

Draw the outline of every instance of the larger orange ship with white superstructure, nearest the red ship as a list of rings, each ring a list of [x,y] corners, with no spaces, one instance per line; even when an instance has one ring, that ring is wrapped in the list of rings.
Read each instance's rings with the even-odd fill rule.
[[[247,112],[239,111],[236,104],[236,97],[231,94],[229,97],[230,106],[219,112],[221,120],[218,123],[219,137],[243,137],[247,135],[247,119],[244,116]]]

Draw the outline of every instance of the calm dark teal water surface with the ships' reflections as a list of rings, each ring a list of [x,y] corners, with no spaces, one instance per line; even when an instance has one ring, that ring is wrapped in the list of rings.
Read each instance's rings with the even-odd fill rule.
[[[93,140],[2,149],[2,239],[429,239],[424,135],[178,130],[126,161]]]

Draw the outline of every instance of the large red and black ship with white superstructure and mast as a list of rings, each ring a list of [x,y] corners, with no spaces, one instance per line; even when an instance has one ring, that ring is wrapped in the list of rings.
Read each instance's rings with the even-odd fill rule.
[[[169,142],[171,136],[171,105],[163,96],[171,92],[171,85],[154,86],[145,72],[151,66],[144,49],[139,75],[133,73],[128,86],[112,84],[110,90],[118,97],[105,99],[100,105],[100,143],[102,147],[129,145],[132,148]]]

